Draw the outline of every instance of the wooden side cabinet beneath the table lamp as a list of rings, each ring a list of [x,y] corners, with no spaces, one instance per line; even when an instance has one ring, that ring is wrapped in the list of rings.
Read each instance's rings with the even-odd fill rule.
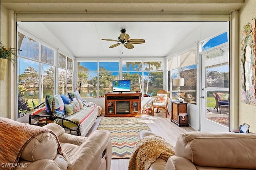
[[[172,101],[171,121],[179,127],[188,126],[187,104],[187,102],[180,103]]]

